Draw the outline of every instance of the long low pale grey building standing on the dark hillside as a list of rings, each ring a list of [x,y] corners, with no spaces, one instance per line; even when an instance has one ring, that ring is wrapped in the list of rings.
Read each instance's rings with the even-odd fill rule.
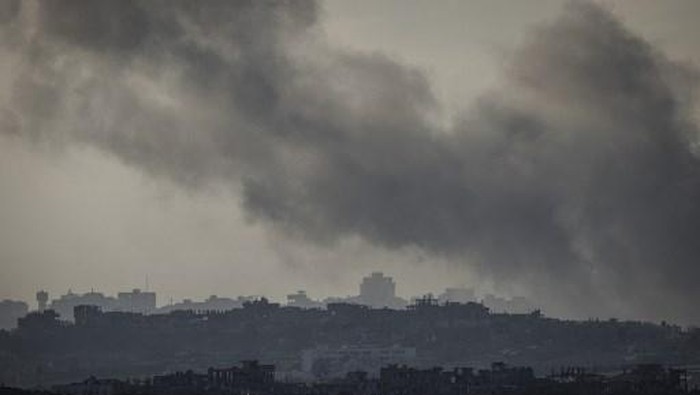
[[[343,377],[359,370],[377,375],[382,366],[410,363],[415,359],[413,347],[316,347],[302,352],[301,368],[316,378]]]

